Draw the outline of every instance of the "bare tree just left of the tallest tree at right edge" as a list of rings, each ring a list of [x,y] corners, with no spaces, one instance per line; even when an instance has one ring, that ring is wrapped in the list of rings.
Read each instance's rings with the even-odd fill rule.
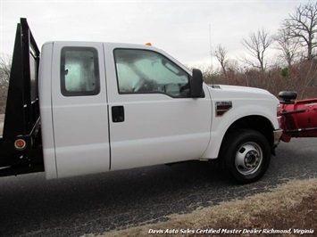
[[[301,55],[301,44],[298,37],[290,37],[288,28],[279,29],[279,33],[274,36],[279,49],[282,52],[283,60],[287,61],[288,67],[291,67],[294,61]]]

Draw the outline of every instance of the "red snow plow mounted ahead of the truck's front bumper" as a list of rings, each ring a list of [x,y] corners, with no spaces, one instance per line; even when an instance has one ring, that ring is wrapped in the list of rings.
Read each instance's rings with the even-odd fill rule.
[[[296,92],[280,92],[281,140],[291,137],[317,137],[317,98],[296,101]]]

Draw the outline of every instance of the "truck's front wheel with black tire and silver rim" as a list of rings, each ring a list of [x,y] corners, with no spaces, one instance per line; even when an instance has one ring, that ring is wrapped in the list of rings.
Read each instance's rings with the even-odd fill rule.
[[[220,159],[233,182],[249,184],[259,180],[269,168],[271,147],[259,132],[239,129],[225,137]]]

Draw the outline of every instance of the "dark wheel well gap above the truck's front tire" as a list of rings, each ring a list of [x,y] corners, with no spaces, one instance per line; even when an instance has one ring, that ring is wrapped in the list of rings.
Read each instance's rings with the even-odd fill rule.
[[[269,119],[266,119],[258,115],[247,116],[247,117],[238,119],[228,128],[226,135],[240,128],[254,129],[258,131],[259,133],[263,134],[271,146],[274,143],[274,139],[272,135],[273,127]]]

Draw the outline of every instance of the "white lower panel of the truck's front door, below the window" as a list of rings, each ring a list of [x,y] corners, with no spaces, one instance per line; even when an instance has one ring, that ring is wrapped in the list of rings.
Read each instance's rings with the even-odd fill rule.
[[[196,117],[204,105],[210,107],[210,102],[171,99],[123,103],[125,121],[111,123],[112,169],[200,158],[210,138],[208,112]]]

